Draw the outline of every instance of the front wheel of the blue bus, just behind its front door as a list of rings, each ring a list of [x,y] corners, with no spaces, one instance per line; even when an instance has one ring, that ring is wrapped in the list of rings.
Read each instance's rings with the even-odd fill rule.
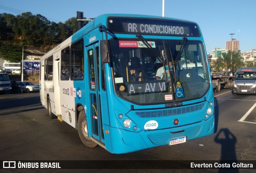
[[[79,137],[84,145],[88,147],[96,147],[98,145],[95,142],[93,142],[88,136],[88,126],[84,111],[79,112],[77,129]]]

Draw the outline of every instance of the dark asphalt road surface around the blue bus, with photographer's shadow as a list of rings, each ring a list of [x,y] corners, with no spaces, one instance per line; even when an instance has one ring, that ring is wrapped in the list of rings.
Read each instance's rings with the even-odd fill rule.
[[[39,93],[0,95],[0,161],[4,160],[94,160],[95,164],[117,164],[118,169],[37,169],[36,172],[184,172],[183,169],[136,169],[144,160],[250,161],[256,160],[256,96],[233,96],[230,89],[215,92],[216,133],[184,144],[161,146],[126,154],[111,154],[102,147],[86,147],[78,132],[65,122],[50,120]],[[250,111],[249,111],[250,110]],[[121,162],[117,162],[121,161]],[[178,161],[178,162],[172,162]],[[91,163],[91,162],[90,162]],[[159,162],[156,162],[159,163]],[[199,162],[198,162],[199,163]],[[68,164],[68,163],[67,163]],[[127,164],[127,165],[126,165]],[[104,165],[106,167],[106,165]],[[142,166],[143,167],[143,166]],[[256,164],[254,164],[256,167]],[[0,172],[35,172],[28,169],[0,169]],[[189,169],[186,172],[255,172],[252,169]]]

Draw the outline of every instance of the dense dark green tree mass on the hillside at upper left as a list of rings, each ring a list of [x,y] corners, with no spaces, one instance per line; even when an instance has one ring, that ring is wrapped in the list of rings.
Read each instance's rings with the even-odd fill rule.
[[[86,18],[84,18],[86,19]],[[88,22],[84,22],[88,24]],[[75,17],[65,23],[50,22],[40,14],[25,12],[14,16],[0,14],[0,56],[10,62],[20,62],[22,46],[49,51],[77,31]],[[26,55],[24,55],[26,57]]]

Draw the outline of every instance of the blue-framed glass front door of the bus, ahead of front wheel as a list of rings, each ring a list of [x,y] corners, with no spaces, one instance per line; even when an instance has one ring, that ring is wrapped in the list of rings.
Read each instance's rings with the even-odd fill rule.
[[[90,116],[92,137],[104,145],[105,140],[102,127],[102,111],[99,86],[99,43],[86,47],[86,53],[88,57],[88,82],[90,97],[90,105],[87,104],[87,108],[90,107],[90,112],[87,111],[87,117],[89,118]]]

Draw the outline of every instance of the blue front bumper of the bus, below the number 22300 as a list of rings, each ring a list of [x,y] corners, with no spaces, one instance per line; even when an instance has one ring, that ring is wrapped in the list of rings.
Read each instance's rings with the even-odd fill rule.
[[[179,132],[180,133],[172,133]],[[214,114],[208,120],[202,120],[186,126],[162,130],[131,132],[110,127],[112,141],[111,153],[129,153],[161,145],[169,145],[170,139],[186,136],[187,140],[208,136],[214,133]],[[107,147],[106,147],[107,149]]]

